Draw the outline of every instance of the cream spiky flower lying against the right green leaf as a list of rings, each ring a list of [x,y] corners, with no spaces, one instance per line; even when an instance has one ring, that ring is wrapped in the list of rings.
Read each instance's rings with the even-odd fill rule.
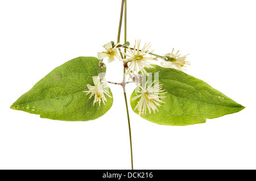
[[[162,100],[160,100],[162,98],[166,98],[166,96],[160,96],[160,94],[166,94],[164,90],[161,90],[163,85],[162,84],[159,85],[159,83],[156,83],[154,86],[152,86],[153,83],[155,83],[155,81],[152,82],[151,85],[147,87],[147,89],[146,89],[147,82],[143,87],[138,85],[138,87],[140,88],[138,92],[140,94],[131,98],[131,100],[141,98],[137,106],[134,108],[134,111],[138,108],[139,115],[141,115],[141,113],[142,115],[146,115],[147,109],[149,113],[151,113],[151,109],[155,113],[155,110],[158,111],[158,108],[156,106],[158,107],[162,106],[159,104],[159,102],[165,103]]]

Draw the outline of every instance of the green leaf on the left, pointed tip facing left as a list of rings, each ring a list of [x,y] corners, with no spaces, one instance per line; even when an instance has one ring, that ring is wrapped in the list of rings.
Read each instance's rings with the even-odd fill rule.
[[[96,102],[93,106],[94,97],[89,99],[90,94],[83,92],[88,90],[87,84],[94,86],[92,76],[98,75],[98,63],[99,60],[95,57],[78,57],[65,62],[20,96],[10,108],[53,120],[97,119],[113,103],[113,98],[106,96],[105,105],[101,102],[99,106]],[[102,72],[105,71],[103,68]],[[112,96],[111,91],[110,95]]]

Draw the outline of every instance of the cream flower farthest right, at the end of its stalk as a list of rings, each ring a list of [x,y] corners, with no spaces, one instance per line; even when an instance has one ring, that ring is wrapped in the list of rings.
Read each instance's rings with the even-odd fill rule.
[[[167,68],[176,68],[178,70],[184,71],[184,68],[186,67],[185,65],[190,65],[189,61],[185,61],[185,58],[187,58],[189,54],[181,56],[181,54],[178,53],[179,50],[174,54],[174,49],[172,49],[172,53],[164,54],[164,62],[161,62],[161,65]]]

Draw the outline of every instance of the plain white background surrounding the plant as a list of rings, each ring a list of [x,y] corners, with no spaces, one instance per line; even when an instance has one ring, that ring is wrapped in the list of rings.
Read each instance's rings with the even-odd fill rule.
[[[187,73],[245,106],[205,124],[170,127],[131,110],[134,169],[256,169],[255,1],[127,0],[127,39],[190,55]],[[122,87],[93,121],[40,119],[9,107],[52,69],[117,41],[121,0],[1,1],[0,169],[130,169]],[[123,36],[123,32],[122,32]],[[123,41],[123,38],[121,39]],[[121,82],[122,64],[107,64]],[[127,96],[135,88],[127,85]]]

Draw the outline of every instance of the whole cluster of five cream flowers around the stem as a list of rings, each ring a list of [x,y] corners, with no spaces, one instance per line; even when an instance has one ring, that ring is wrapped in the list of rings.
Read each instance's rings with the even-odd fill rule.
[[[101,62],[104,58],[108,58],[109,63],[113,62],[115,58],[122,61],[126,68],[126,75],[129,74],[130,78],[134,83],[136,83],[139,90],[137,91],[137,96],[131,98],[131,100],[139,99],[134,111],[137,109],[139,111],[139,115],[146,115],[147,110],[149,113],[151,113],[151,110],[155,113],[155,111],[159,111],[158,107],[162,106],[160,103],[165,103],[161,99],[166,98],[163,94],[166,94],[167,92],[164,92],[164,90],[162,90],[163,85],[156,83],[156,81],[152,82],[150,85],[148,85],[147,81],[142,85],[143,81],[141,75],[139,75],[139,71],[142,75],[149,76],[144,68],[154,69],[154,66],[152,66],[149,61],[157,61],[158,59],[162,60],[160,65],[163,67],[176,68],[180,71],[184,71],[186,67],[185,65],[190,65],[188,61],[185,61],[188,54],[181,56],[181,54],[178,54],[179,50],[174,53],[174,49],[172,49],[171,53],[159,56],[158,54],[153,53],[154,50],[150,50],[150,43],[145,43],[142,49],[140,49],[141,40],[135,40],[133,48],[128,45],[129,43],[123,45],[117,43],[114,45],[113,41],[107,43],[103,46],[106,50],[104,52],[98,52],[98,58]],[[121,48],[125,48],[127,51],[122,51]],[[123,58],[123,56],[125,58]],[[94,76],[93,83],[94,86],[87,85],[89,90],[84,92],[88,92],[87,94],[92,93],[90,98],[94,95],[93,105],[96,102],[99,102],[100,104],[101,100],[105,104],[107,101],[105,94],[111,98],[109,92],[106,90],[108,85],[106,84],[105,77],[100,80],[99,76]]]

